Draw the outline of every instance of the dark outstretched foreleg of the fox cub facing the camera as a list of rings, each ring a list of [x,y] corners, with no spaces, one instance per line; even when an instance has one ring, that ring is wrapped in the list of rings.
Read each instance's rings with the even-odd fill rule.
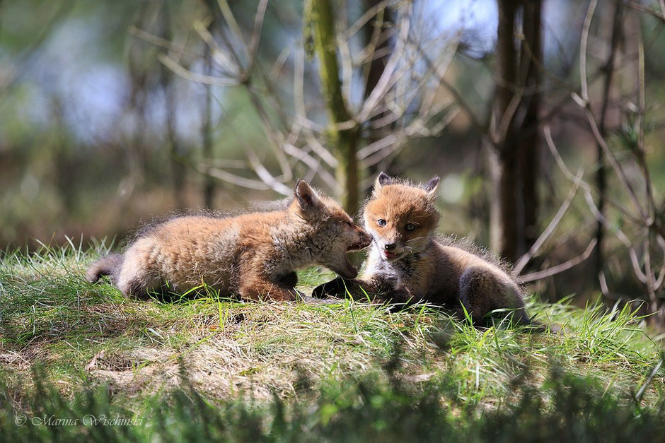
[[[395,288],[394,285],[380,278],[349,280],[342,277],[317,286],[312,292],[312,297],[345,298],[347,294],[350,294],[354,300],[367,300],[369,295],[372,301],[395,303],[405,303],[411,298],[411,294],[406,288]]]

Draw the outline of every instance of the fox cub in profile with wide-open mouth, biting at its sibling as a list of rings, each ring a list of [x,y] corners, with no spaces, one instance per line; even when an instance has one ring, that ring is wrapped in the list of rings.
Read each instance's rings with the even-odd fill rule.
[[[124,254],[88,269],[88,281],[109,275],[125,295],[183,293],[206,283],[250,300],[295,300],[296,269],[320,264],[344,278],[358,271],[347,252],[369,235],[332,199],[299,181],[284,211],[217,218],[173,218],[139,234]]]

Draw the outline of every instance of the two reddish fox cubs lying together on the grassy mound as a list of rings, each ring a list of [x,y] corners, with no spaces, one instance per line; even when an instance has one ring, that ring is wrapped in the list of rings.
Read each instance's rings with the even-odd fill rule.
[[[296,300],[296,270],[319,264],[339,274],[313,296],[392,302],[427,301],[465,309],[474,321],[488,312],[524,311],[519,286],[478,252],[435,236],[439,177],[417,186],[381,172],[364,206],[364,227],[332,199],[299,181],[284,211],[219,218],[173,218],[141,232],[124,254],[110,254],[88,269],[91,282],[109,275],[125,295],[183,293],[202,283],[248,300]],[[347,252],[371,244],[361,278]]]

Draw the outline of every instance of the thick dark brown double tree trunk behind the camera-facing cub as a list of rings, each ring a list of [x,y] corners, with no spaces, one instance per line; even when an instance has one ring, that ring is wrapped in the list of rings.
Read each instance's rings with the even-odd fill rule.
[[[521,47],[515,33],[519,10]],[[490,244],[510,261],[524,254],[538,234],[540,16],[540,1],[499,0]]]

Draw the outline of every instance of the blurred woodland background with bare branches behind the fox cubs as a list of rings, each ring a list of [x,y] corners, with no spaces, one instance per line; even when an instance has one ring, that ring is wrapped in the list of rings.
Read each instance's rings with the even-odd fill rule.
[[[439,175],[441,232],[662,324],[663,3],[0,0],[0,247]]]

